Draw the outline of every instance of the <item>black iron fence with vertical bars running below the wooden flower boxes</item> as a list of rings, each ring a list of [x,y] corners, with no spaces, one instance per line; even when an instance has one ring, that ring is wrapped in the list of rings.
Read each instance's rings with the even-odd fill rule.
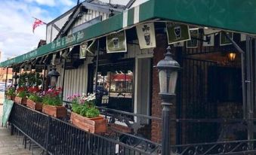
[[[20,132],[49,154],[152,154],[113,138],[94,135],[63,120],[14,104],[9,120]],[[154,154],[154,153],[153,153]]]

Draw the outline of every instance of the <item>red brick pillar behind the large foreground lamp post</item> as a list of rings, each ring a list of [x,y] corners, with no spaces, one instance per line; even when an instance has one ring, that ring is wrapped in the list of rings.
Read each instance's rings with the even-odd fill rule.
[[[154,49],[153,66],[164,58],[164,53],[168,47],[166,35],[156,35],[156,48]],[[159,97],[159,72],[153,68],[153,91],[152,91],[152,116],[162,117],[162,100]],[[175,118],[175,105],[171,107],[171,118]],[[171,123],[171,144],[175,143],[175,124]],[[153,120],[151,129],[151,139],[155,142],[161,142],[162,123]]]

